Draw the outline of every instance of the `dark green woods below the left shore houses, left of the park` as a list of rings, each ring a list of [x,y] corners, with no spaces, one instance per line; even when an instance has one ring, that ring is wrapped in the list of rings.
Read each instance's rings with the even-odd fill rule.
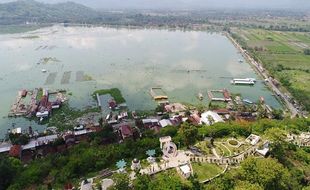
[[[50,179],[53,187],[59,188],[61,184],[74,182],[89,173],[108,167],[114,168],[115,163],[120,159],[146,158],[145,152],[148,149],[156,149],[156,152],[160,152],[158,139],[152,138],[128,140],[122,144],[100,145],[98,138],[104,138],[110,133],[109,131],[110,129],[107,129],[106,132],[93,135],[91,143],[81,143],[63,154],[53,154],[35,160],[19,173],[12,172],[15,177],[10,179],[12,183],[10,189],[42,185],[44,179]],[[5,171],[0,168],[0,175],[5,175],[2,172]]]

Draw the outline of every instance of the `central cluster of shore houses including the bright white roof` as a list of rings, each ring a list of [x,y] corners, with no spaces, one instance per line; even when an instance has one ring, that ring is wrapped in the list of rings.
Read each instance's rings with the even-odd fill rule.
[[[187,115],[187,109],[179,103],[164,104],[163,112],[158,112],[155,116],[139,118],[135,112],[128,114],[126,111],[118,113],[110,112],[107,115],[105,122],[111,125],[115,132],[119,134],[120,140],[141,136],[141,130],[153,130],[158,133],[161,128],[167,126],[179,126],[182,122],[188,121],[193,124],[212,125],[217,122],[225,122],[225,116],[213,111],[206,111],[198,114],[197,111],[190,111]],[[226,112],[225,112],[226,113]],[[131,115],[131,117],[129,117]]]

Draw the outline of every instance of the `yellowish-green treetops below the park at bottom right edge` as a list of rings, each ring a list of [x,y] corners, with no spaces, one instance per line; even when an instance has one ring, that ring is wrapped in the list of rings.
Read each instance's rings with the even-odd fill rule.
[[[207,189],[298,189],[295,176],[276,159],[249,157],[239,169],[213,181]]]

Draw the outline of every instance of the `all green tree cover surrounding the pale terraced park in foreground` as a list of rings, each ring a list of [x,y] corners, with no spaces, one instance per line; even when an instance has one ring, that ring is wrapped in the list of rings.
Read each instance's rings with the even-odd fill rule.
[[[90,142],[80,143],[65,153],[53,154],[35,160],[22,170],[19,164],[12,162],[11,159],[1,158],[0,176],[12,176],[6,178],[5,182],[6,185],[10,184],[9,189],[40,187],[43,183],[50,183],[53,188],[61,188],[67,182],[75,183],[80,177],[88,176],[102,169],[115,169],[115,163],[120,159],[124,158],[127,162],[135,157],[145,159],[147,157],[145,152],[148,149],[155,149],[156,156],[160,156],[159,136],[171,135],[177,145],[187,146],[207,136],[214,138],[232,135],[246,137],[250,133],[255,133],[272,141],[271,158],[259,160],[249,158],[241,165],[240,169],[229,171],[206,185],[206,188],[275,189],[276,186],[279,186],[282,189],[300,189],[307,185],[307,179],[310,178],[310,149],[298,148],[287,143],[284,141],[284,132],[307,131],[309,126],[309,119],[284,119],[281,121],[266,119],[254,123],[216,123],[212,126],[198,127],[185,123],[180,127],[168,126],[160,134],[150,133],[136,141],[126,140],[122,144],[102,145],[102,139],[105,139],[105,142],[115,142],[112,129],[105,127],[102,132],[92,135]],[[198,128],[198,131],[194,128]],[[191,140],[188,141],[185,138]],[[164,173],[156,175],[154,179],[140,176],[133,185],[137,189],[155,189],[156,184],[162,184],[163,189],[186,189],[186,187],[194,186],[197,182],[193,179],[190,180],[191,185],[188,185],[174,175],[168,174],[168,176]]]

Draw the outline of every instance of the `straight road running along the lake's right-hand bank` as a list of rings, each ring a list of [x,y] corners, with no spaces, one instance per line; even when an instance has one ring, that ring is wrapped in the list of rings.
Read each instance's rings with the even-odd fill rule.
[[[298,114],[298,110],[296,107],[289,101],[289,99],[280,91],[280,89],[273,84],[270,80],[268,74],[266,73],[265,69],[257,63],[242,47],[229,35],[227,34],[228,38],[234,43],[234,45],[240,50],[240,52],[250,61],[250,63],[256,68],[259,74],[265,79],[266,84],[278,95],[286,104],[286,107],[291,112],[291,117],[296,117]]]

